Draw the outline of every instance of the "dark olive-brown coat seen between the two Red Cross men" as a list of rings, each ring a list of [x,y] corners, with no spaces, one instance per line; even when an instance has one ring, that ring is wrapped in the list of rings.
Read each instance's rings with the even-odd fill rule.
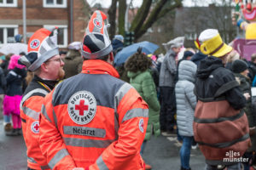
[[[73,77],[82,71],[83,59],[78,50],[69,49],[64,63],[65,78]]]

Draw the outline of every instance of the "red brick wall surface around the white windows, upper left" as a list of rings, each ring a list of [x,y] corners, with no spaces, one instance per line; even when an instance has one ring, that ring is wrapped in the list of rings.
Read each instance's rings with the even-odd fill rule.
[[[1,8],[0,20],[22,20],[22,0],[18,1],[18,7]],[[84,0],[73,0],[73,41],[82,41],[84,30],[90,17],[90,7]],[[70,43],[70,0],[67,0],[67,8],[44,8],[43,0],[26,0],[26,19],[43,20],[42,26],[26,26],[27,32],[37,31],[42,28],[44,20],[67,20],[68,43]],[[61,25],[55,23],[55,25]],[[20,24],[19,33],[23,34],[23,26]]]

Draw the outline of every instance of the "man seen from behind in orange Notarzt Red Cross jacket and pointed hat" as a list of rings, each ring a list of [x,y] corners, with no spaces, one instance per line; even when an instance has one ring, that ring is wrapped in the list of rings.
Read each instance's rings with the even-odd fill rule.
[[[40,147],[49,167],[143,170],[140,147],[148,105],[113,68],[107,16],[92,14],[84,35],[83,69],[44,98]]]

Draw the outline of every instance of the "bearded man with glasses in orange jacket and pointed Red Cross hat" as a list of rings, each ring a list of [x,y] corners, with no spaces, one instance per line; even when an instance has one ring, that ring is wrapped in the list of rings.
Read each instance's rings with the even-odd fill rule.
[[[20,103],[28,170],[49,169],[39,147],[39,115],[44,96],[55,87],[58,79],[64,77],[64,63],[55,43],[56,31],[56,27],[36,31],[28,42],[28,54],[19,60],[35,74]]]

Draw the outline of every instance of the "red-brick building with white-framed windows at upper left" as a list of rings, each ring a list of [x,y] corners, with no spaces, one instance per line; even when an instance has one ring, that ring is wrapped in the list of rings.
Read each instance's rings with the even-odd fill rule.
[[[58,45],[67,48],[82,41],[89,17],[85,0],[26,0],[26,40],[39,28],[58,26]],[[23,0],[0,0],[0,47],[16,34],[23,34]]]

